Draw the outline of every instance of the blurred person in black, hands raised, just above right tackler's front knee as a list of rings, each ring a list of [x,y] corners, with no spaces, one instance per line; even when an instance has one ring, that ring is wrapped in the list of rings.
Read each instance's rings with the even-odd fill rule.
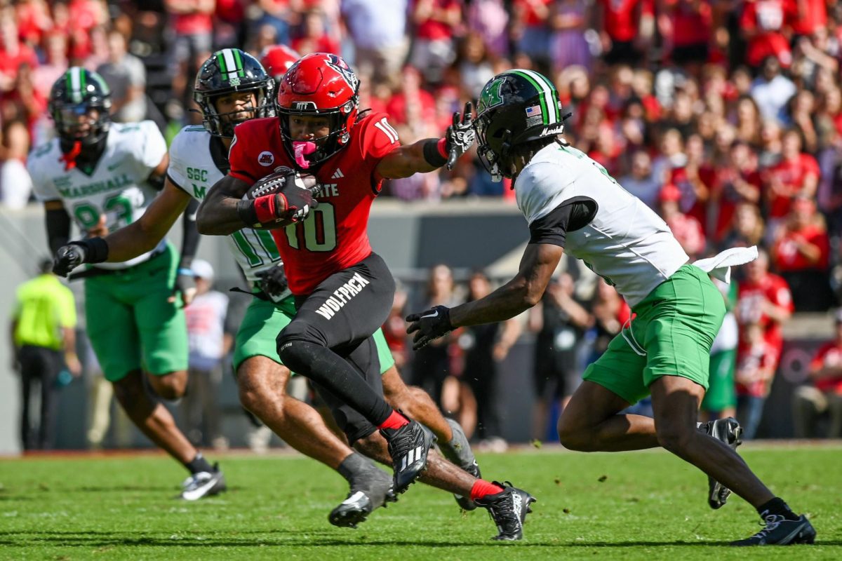
[[[555,440],[552,418],[561,413],[582,379],[578,355],[594,318],[574,293],[573,277],[561,273],[551,281],[541,302],[529,311],[529,329],[536,334],[532,437],[539,440]]]

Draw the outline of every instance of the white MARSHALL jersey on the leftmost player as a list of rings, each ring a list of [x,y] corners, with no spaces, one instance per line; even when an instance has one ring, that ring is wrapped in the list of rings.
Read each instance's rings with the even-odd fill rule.
[[[61,200],[83,231],[97,225],[104,214],[105,225],[113,232],[146,212],[156,194],[147,185],[147,179],[166,154],[167,143],[152,121],[112,123],[103,154],[90,174],[78,167],[65,169],[57,138],[36,147],[29,154],[26,167],[39,200]],[[97,263],[94,267],[132,267],[163,250],[166,243],[162,240],[154,250],[129,261]]]

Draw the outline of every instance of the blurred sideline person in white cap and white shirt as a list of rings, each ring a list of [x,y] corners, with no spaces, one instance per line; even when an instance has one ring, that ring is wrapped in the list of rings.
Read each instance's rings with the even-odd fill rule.
[[[204,259],[194,259],[196,295],[184,308],[189,341],[189,378],[181,400],[184,433],[196,446],[226,449],[221,432],[219,390],[222,384],[222,359],[232,347],[232,337],[225,332],[228,297],[211,289],[214,270]]]

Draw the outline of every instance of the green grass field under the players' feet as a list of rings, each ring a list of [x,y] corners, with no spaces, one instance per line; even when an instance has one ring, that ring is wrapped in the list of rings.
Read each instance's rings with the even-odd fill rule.
[[[810,516],[815,546],[724,546],[758,530],[757,514],[734,496],[711,511],[704,475],[663,451],[545,447],[479,458],[489,479],[511,479],[539,500],[516,543],[491,541],[485,511],[461,514],[450,495],[421,484],[358,530],[332,527],[328,511],[346,484],[296,455],[223,457],[229,492],[196,503],[173,500],[185,474],[163,456],[2,460],[0,558],[842,558],[842,447],[741,452]]]

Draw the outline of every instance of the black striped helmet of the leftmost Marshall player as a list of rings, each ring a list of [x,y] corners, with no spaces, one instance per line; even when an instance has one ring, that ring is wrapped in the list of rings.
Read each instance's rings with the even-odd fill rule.
[[[109,129],[111,92],[94,71],[72,66],[53,84],[47,110],[63,143],[93,146]]]

